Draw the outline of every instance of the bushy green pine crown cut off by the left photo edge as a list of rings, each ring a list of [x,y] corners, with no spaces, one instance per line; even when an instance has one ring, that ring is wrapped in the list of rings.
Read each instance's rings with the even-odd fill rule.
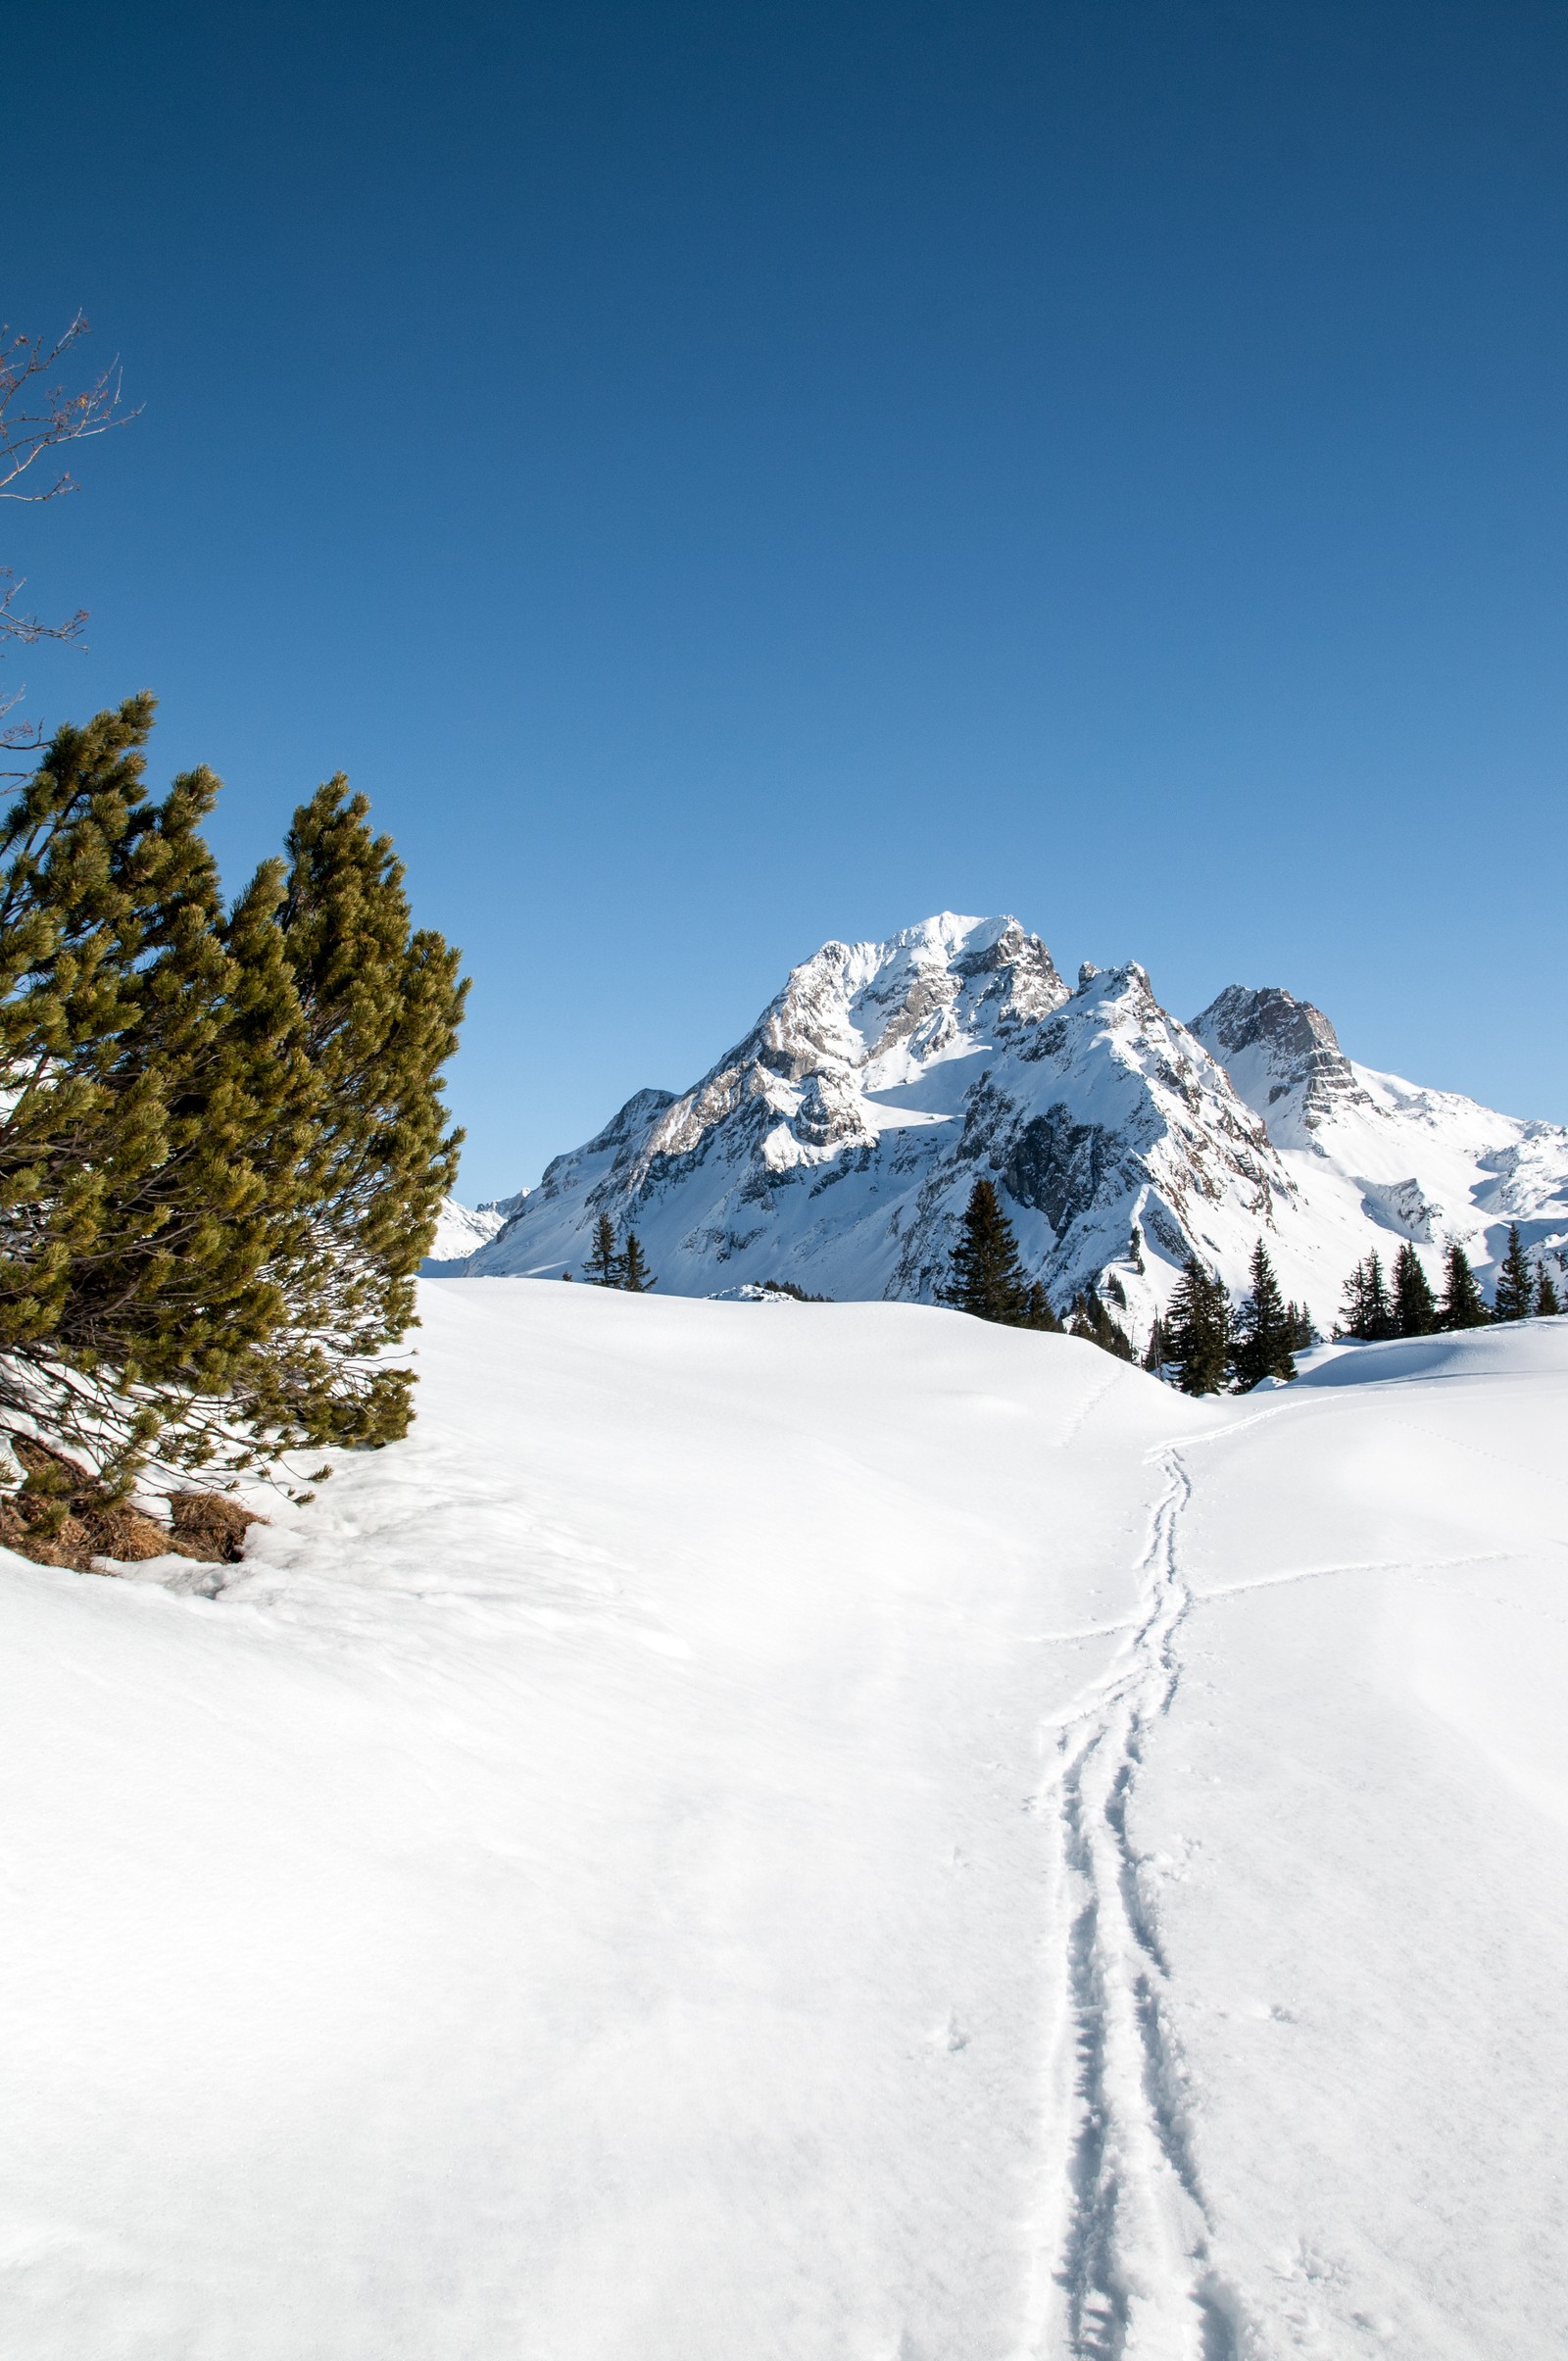
[[[120,1476],[208,1457],[194,1405],[276,1329],[316,1093],[276,874],[222,921],[217,779],[149,803],[151,720],[57,732],[0,822],[0,1417]]]

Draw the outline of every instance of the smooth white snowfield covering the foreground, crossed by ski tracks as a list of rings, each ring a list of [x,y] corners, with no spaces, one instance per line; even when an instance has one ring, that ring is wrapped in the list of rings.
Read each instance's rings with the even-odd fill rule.
[[[1568,1320],[420,1308],[220,1596],[0,1558],[7,2356],[1568,2349]]]

